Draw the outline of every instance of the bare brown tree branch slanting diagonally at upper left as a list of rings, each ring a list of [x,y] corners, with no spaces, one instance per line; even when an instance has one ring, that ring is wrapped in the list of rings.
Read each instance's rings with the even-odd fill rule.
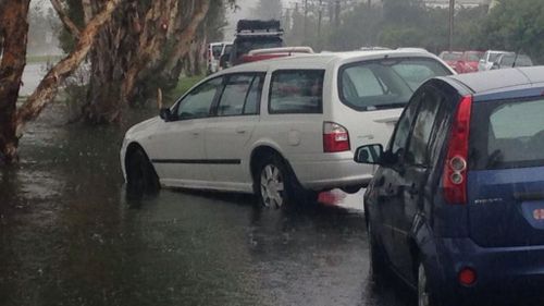
[[[79,41],[69,56],[57,63],[41,79],[38,88],[32,94],[26,102],[17,111],[16,135],[23,135],[23,128],[28,121],[39,115],[44,108],[53,100],[60,84],[76,70],[87,57],[94,45],[95,38],[102,26],[112,17],[113,11],[119,7],[121,0],[110,0],[102,11],[92,17],[81,34]]]

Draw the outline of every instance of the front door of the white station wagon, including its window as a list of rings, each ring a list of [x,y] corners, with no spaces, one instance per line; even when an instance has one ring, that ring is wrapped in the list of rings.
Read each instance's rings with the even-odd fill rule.
[[[222,88],[223,77],[202,83],[173,110],[173,120],[163,124],[150,147],[152,162],[162,183],[199,187],[212,179],[205,151],[206,125],[213,121],[211,108]]]

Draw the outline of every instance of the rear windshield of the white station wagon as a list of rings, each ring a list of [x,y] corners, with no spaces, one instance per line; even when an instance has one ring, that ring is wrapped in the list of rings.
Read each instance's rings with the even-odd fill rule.
[[[452,74],[431,59],[394,59],[358,62],[341,69],[342,101],[359,111],[405,106],[425,81]]]

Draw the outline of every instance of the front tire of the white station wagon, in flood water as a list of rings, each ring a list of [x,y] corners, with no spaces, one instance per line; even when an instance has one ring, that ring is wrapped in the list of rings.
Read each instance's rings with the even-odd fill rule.
[[[136,149],[128,156],[126,179],[126,189],[129,196],[154,195],[160,189],[154,168],[141,149]]]

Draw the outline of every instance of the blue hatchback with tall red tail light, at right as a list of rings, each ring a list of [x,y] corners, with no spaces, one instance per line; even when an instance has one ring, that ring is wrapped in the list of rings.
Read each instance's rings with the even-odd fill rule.
[[[431,79],[355,160],[380,166],[372,276],[393,270],[420,306],[544,305],[544,68]]]

